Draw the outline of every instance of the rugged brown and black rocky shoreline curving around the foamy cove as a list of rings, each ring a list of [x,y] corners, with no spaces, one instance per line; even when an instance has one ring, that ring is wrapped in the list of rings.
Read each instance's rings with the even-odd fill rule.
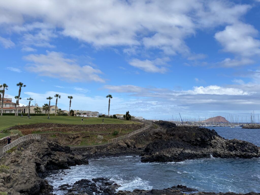
[[[260,148],[246,141],[227,140],[214,130],[198,127],[176,127],[169,122],[158,121],[153,129],[136,134],[130,139],[94,147],[67,147],[54,142],[35,140],[24,143],[11,154],[1,159],[0,192],[8,195],[47,195],[53,187],[44,178],[54,170],[69,169],[70,166],[88,164],[88,159],[141,155],[142,162],[169,162],[195,158],[255,158],[260,157]],[[106,178],[80,180],[72,186],[60,186],[67,195],[115,194],[119,187]],[[85,189],[84,192],[82,189]],[[187,190],[187,191],[186,191]],[[183,194],[196,189],[173,186],[162,190],[118,191],[116,194]],[[215,194],[196,192],[196,194]],[[223,193],[218,193],[223,194]],[[235,194],[235,193],[224,193]],[[248,194],[257,194],[254,192]]]

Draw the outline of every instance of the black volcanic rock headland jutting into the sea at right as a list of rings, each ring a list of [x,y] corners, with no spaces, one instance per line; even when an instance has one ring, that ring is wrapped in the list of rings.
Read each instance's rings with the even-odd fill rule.
[[[164,124],[166,123],[166,124]],[[258,158],[260,148],[247,141],[224,139],[215,132],[199,127],[170,127],[168,122],[160,138],[149,143],[142,152],[142,162],[170,162],[195,158]]]

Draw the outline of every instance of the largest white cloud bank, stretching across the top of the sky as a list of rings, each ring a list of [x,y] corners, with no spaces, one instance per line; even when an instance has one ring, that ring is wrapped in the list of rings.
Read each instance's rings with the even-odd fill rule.
[[[0,25],[9,25],[11,30],[25,32],[23,43],[36,47],[53,47],[49,41],[53,37],[50,34],[55,32],[50,29],[58,29],[64,36],[96,47],[127,46],[124,52],[135,53],[136,47],[144,46],[175,55],[190,53],[185,38],[196,34],[198,29],[237,23],[250,8],[250,5],[227,1],[200,0],[62,3],[10,0],[0,5],[3,16]],[[23,25],[25,21],[29,22]],[[48,30],[27,33],[32,29]]]

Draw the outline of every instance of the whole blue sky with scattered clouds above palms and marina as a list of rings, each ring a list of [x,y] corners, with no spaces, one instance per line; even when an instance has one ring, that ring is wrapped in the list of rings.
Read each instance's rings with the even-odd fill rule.
[[[0,2],[5,97],[146,119],[260,111],[260,0]],[[249,119],[248,119],[249,121]]]

